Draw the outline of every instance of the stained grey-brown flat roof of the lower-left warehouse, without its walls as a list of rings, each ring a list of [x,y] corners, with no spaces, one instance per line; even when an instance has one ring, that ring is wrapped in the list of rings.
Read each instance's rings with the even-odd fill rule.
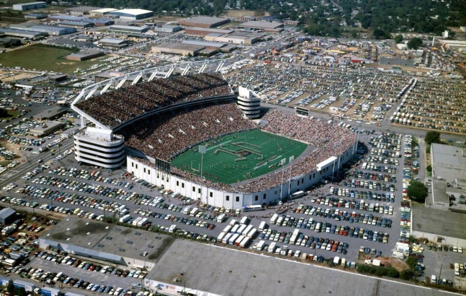
[[[41,239],[89,248],[127,258],[156,261],[173,238],[154,232],[68,216]],[[131,243],[130,243],[131,242]],[[146,257],[141,253],[148,252]]]

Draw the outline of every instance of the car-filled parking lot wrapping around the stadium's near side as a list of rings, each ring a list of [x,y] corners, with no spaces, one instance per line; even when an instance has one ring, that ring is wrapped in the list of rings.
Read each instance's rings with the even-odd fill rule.
[[[362,246],[368,248],[372,255],[390,256],[400,234],[403,170],[397,163],[404,161],[404,143],[397,136],[397,148],[397,145],[388,143],[386,137],[380,136],[361,134],[360,142],[365,144],[367,154],[361,156],[356,166],[345,172],[345,176],[341,174],[339,179],[335,179],[338,182],[316,188],[309,195],[283,206],[275,205],[261,212],[244,213],[250,216],[253,228],[258,229],[263,221],[268,225],[266,232],[258,233],[249,247],[263,240],[265,246],[271,243],[275,243],[277,248],[287,246],[294,252],[293,255],[295,251],[300,251],[300,254],[323,258],[340,256],[351,262],[356,261]],[[383,148],[377,148],[377,145],[380,146],[377,139],[380,138],[388,143],[382,144],[385,145]],[[375,145],[375,148],[371,148],[371,145]],[[379,150],[385,152],[379,153]],[[47,165],[50,167],[46,168]],[[150,222],[147,227],[153,229],[160,226],[163,227],[162,231],[176,224],[178,229],[210,241],[215,241],[233,219],[239,220],[243,215],[231,212],[226,215],[230,218],[219,223],[216,217],[221,214],[220,209],[202,208],[193,200],[167,197],[151,188],[150,184],[138,183],[130,176],[123,175],[121,170],[97,173],[94,169],[82,171],[85,167],[76,169],[72,155],[64,156],[60,163],[54,161],[46,166],[42,171],[36,171],[35,175],[30,175],[29,180],[17,181],[17,188],[8,195],[15,199],[7,198],[4,202],[100,219],[104,214],[120,216],[116,209],[124,206],[131,216],[127,222],[133,223],[137,218],[140,221],[145,217]],[[183,213],[187,206],[191,209],[198,206],[203,214],[192,217]],[[279,225],[270,222],[276,212],[283,215]],[[317,223],[320,224],[320,231],[316,231]],[[290,238],[296,230],[296,242],[299,244],[293,245]]]

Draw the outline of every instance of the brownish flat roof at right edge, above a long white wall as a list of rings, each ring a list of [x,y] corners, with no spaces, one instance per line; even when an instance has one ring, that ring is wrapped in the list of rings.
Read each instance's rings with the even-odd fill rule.
[[[466,214],[429,208],[413,208],[411,223],[413,231],[465,239],[465,221]]]

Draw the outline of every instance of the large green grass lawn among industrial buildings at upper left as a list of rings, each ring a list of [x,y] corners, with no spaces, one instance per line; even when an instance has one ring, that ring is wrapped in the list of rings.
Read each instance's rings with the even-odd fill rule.
[[[0,53],[0,64],[8,67],[48,70],[73,73],[76,68],[87,68],[98,61],[70,61],[65,58],[71,49],[61,49],[43,44],[34,44],[20,49]]]

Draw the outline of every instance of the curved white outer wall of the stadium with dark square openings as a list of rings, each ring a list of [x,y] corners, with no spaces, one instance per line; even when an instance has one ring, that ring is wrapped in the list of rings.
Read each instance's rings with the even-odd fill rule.
[[[353,147],[348,148],[342,153],[340,159],[340,167],[343,166],[353,157]],[[129,152],[129,151],[128,151]],[[355,152],[355,151],[354,151]],[[128,153],[129,154],[129,153]],[[142,155],[137,155],[141,157]],[[149,161],[149,160],[148,160]],[[193,181],[185,180],[179,176],[167,174],[166,172],[156,169],[154,166],[144,164],[137,159],[127,156],[127,171],[133,173],[137,178],[141,178],[157,186],[163,186],[166,189],[171,189],[173,192],[180,193],[185,197],[193,199],[201,199],[201,186]],[[335,158],[334,162],[330,162],[323,166],[320,171],[317,169],[302,175],[295,177],[291,180],[290,190],[288,192],[288,178],[284,179],[283,182],[283,199],[288,197],[289,193],[294,193],[300,190],[316,184],[321,181],[324,177],[332,175],[333,169],[337,170],[338,158]],[[333,168],[334,166],[334,168]],[[248,205],[262,205],[274,203],[280,200],[281,185],[266,189],[264,191],[254,193],[239,193],[239,192],[226,192],[209,188],[206,186],[202,187],[202,203],[206,203],[216,207],[224,207],[230,209],[242,209]]]

